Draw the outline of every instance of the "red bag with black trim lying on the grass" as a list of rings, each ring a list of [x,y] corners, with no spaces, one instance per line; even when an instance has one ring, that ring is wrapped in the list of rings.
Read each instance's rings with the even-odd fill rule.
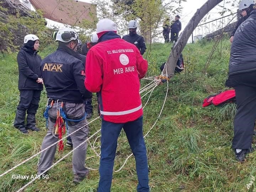
[[[220,92],[215,95],[210,95],[206,97],[203,101],[203,107],[207,107],[209,105],[215,105],[215,106],[220,106],[224,105],[225,103],[235,103],[236,98],[235,98],[235,90],[227,90]]]

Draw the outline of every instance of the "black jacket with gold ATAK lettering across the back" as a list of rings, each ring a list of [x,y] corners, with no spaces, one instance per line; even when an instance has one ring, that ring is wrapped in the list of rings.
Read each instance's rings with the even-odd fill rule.
[[[79,54],[66,46],[48,55],[41,63],[42,77],[47,97],[69,103],[83,103],[90,97],[85,89],[85,68]]]

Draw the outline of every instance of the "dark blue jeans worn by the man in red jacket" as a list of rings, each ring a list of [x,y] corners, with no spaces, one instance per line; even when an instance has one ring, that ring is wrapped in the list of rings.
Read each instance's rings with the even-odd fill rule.
[[[98,192],[110,192],[114,158],[117,149],[117,139],[122,130],[126,133],[130,148],[136,161],[138,175],[137,191],[149,191],[148,160],[146,146],[143,138],[143,116],[135,121],[127,123],[111,123],[102,120],[101,126],[101,159],[100,159],[100,181]]]

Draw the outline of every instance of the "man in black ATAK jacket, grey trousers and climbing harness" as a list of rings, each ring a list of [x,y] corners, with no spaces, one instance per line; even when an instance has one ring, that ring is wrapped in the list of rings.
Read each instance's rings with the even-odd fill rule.
[[[76,53],[78,34],[72,28],[62,28],[58,31],[56,41],[59,43],[57,50],[48,55],[41,62],[42,77],[46,87],[47,97],[52,106],[48,110],[48,132],[43,139],[41,150],[58,141],[58,134],[54,134],[57,122],[58,108],[63,106],[67,118],[68,129],[74,148],[84,143],[89,127],[85,118],[83,95],[91,93],[85,89],[84,64],[79,54]],[[58,104],[58,106],[57,106]],[[79,130],[78,130],[79,129]],[[78,130],[72,134],[75,130]],[[48,169],[54,160],[57,146],[54,145],[43,151],[38,164],[38,174]],[[73,152],[74,183],[84,180],[89,174],[85,167],[87,143],[85,142]]]

